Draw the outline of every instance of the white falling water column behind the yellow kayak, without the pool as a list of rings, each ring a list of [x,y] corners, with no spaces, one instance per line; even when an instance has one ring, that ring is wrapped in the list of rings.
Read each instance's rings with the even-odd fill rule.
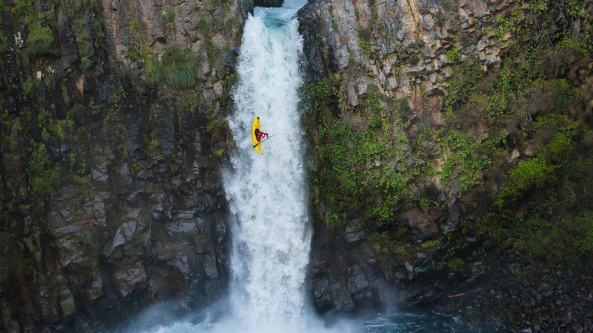
[[[304,1],[256,8],[244,27],[229,119],[235,149],[224,188],[233,223],[231,306],[247,328],[305,322],[310,224],[301,155],[298,90],[302,40],[295,14]],[[276,136],[257,155],[251,123]]]

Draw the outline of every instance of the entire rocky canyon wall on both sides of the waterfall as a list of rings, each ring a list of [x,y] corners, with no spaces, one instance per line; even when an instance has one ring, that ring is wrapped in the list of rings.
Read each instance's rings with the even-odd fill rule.
[[[220,167],[253,6],[2,2],[1,329],[110,329],[225,292]],[[592,11],[301,9],[319,312],[593,329]]]

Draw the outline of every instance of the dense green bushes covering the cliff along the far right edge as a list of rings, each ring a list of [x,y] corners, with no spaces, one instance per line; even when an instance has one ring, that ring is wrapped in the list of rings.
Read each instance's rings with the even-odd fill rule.
[[[473,114],[477,113],[479,120],[487,124],[487,136],[469,141],[489,148],[466,156],[470,155],[470,161],[483,159],[478,172],[487,172],[490,177],[503,175],[502,186],[495,185],[494,178],[470,182],[483,187],[470,187],[465,200],[476,200],[483,194],[491,199],[469,204],[468,209],[481,211],[482,216],[476,224],[465,223],[466,229],[456,232],[476,232],[484,241],[483,253],[492,260],[499,250],[510,248],[524,258],[584,267],[593,255],[593,206],[588,194],[581,190],[591,184],[593,165],[585,156],[593,151],[587,139],[593,128],[586,121],[589,116],[579,79],[570,73],[570,68],[581,68],[591,59],[593,44],[591,35],[585,32],[591,28],[591,14],[586,13],[586,5],[583,1],[566,2],[561,7],[545,1],[519,3],[508,17],[497,21],[496,36],[512,33],[498,77],[492,84],[473,76],[454,81],[452,87],[458,92],[445,100],[448,120],[442,133],[446,140],[458,136],[459,130],[471,133],[474,124],[468,120],[476,119]],[[549,11],[559,12],[552,18],[546,15]],[[585,17],[585,31],[576,33],[563,21]],[[534,21],[546,29],[531,30]],[[570,63],[568,59],[572,59]],[[509,132],[510,139],[517,141],[514,145],[527,154],[517,164],[508,162],[513,161],[509,157],[512,148],[508,148],[512,143],[505,137]],[[459,142],[453,150],[464,151],[466,145]],[[461,175],[462,184],[463,175],[476,174],[464,168],[467,161],[464,157],[453,167]],[[463,185],[461,188],[466,189]],[[457,249],[465,246],[460,241],[451,245]]]

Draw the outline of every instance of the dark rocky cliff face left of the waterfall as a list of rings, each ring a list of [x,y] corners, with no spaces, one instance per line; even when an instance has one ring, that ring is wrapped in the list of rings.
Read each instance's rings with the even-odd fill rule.
[[[224,115],[252,9],[0,5],[1,331],[108,328],[221,292]]]

